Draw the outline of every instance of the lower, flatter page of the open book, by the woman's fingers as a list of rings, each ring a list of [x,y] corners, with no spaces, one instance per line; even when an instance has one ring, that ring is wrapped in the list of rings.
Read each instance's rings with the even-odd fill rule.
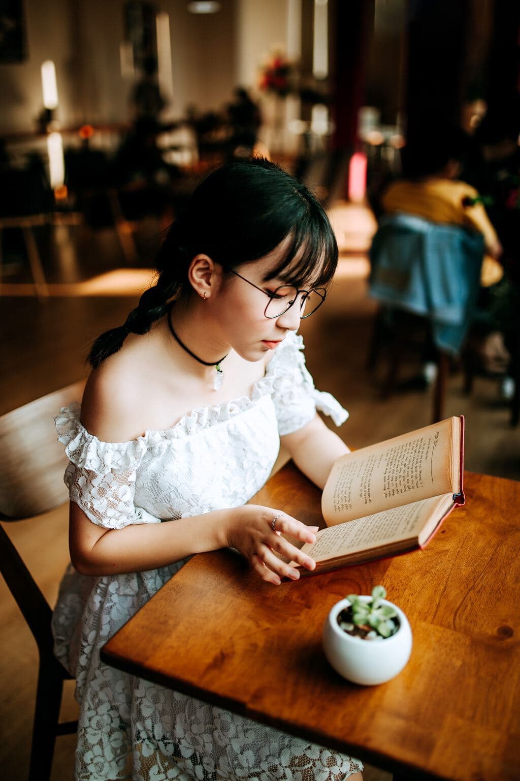
[[[306,543],[302,551],[316,562],[323,562],[357,551],[370,551],[399,540],[418,541],[419,535],[430,536],[452,504],[452,494],[444,494],[329,526],[317,533],[315,543]]]

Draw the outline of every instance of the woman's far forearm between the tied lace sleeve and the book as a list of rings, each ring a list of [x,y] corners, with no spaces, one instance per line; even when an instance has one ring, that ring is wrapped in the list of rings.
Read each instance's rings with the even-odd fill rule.
[[[302,473],[322,489],[336,458],[350,452],[345,442],[325,426],[319,415],[315,415],[299,431],[280,439]]]

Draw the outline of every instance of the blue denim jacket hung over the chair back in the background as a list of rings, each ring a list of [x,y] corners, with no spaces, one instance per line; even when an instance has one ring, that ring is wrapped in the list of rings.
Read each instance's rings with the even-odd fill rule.
[[[370,249],[370,297],[429,318],[437,347],[456,355],[476,308],[483,251],[482,234],[386,215]]]

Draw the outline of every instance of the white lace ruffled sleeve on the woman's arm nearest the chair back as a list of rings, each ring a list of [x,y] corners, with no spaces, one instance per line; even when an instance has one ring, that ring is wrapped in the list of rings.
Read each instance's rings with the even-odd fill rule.
[[[160,523],[133,502],[136,469],[147,451],[143,438],[102,442],[80,423],[80,405],[62,407],[55,417],[58,440],[65,444],[69,465],[64,481],[76,502],[97,526],[122,529],[132,523]]]

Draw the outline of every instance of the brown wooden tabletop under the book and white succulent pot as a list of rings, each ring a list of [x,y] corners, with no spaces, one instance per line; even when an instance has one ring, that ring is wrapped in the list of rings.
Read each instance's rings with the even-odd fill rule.
[[[425,551],[279,587],[232,551],[197,555],[101,658],[407,778],[520,779],[520,483],[466,473],[465,493]],[[292,463],[255,501],[322,522]],[[321,631],[336,601],[377,583],[409,617],[412,656],[356,686]]]

